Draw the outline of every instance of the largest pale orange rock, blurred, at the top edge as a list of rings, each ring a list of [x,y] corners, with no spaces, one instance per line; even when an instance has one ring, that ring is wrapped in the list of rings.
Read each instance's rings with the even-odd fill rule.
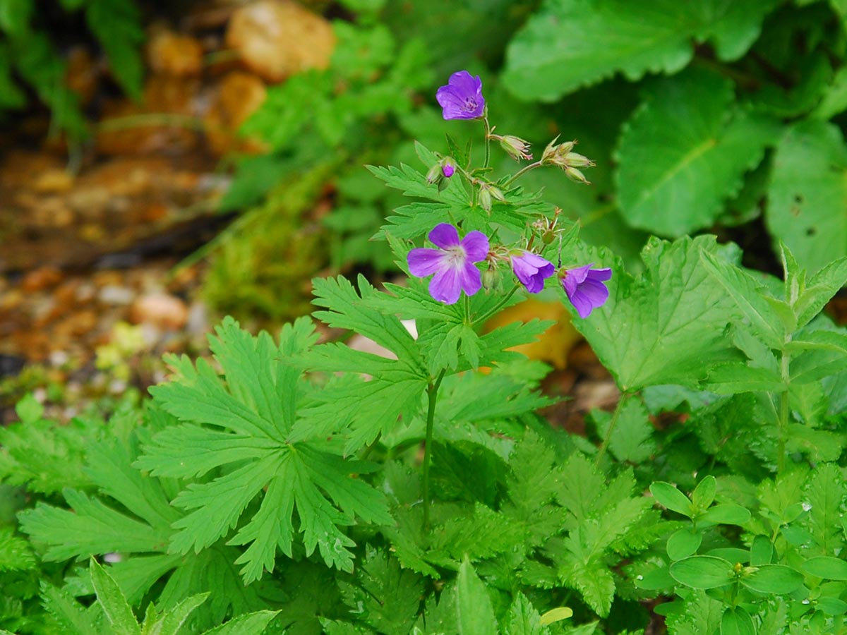
[[[226,45],[257,75],[278,82],[305,69],[329,66],[335,33],[326,19],[299,4],[258,0],[235,10]]]

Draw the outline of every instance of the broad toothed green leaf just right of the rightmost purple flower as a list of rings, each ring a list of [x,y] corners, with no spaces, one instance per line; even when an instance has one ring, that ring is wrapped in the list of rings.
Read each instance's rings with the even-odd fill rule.
[[[714,238],[651,238],[641,254],[645,273],[632,279],[616,269],[609,301],[573,320],[624,391],[694,387],[709,367],[739,356],[724,334],[738,308],[700,264],[701,250],[716,252]]]

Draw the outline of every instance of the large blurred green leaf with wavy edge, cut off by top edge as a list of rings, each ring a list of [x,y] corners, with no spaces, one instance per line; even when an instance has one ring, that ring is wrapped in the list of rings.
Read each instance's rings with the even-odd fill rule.
[[[719,58],[736,59],[775,4],[660,0],[645,11],[627,0],[547,0],[510,42],[503,80],[518,97],[552,102],[617,71],[628,80],[675,73],[694,41],[711,40]]]

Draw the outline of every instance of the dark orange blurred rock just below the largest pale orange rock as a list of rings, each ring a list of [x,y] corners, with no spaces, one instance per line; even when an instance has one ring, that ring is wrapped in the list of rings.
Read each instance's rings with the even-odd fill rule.
[[[206,139],[215,154],[267,151],[263,141],[238,135],[241,124],[262,105],[266,94],[264,82],[256,75],[242,71],[224,75],[205,119]]]

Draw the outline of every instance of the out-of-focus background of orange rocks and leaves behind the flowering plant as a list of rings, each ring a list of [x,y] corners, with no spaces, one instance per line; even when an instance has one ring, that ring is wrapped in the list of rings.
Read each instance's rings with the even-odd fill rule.
[[[446,134],[481,149],[482,125],[435,102],[459,69],[536,156],[579,140],[592,185],[555,169],[523,185],[630,273],[650,234],[698,232],[763,273],[783,240],[816,271],[847,255],[845,15],[838,0],[0,0],[3,417],[31,390],[63,418],[91,395],[137,399],[163,352],[202,353],[224,314],[274,330],[309,312],[316,275],[395,277],[374,235],[404,198],[363,166],[425,171],[414,140],[445,152]],[[559,392],[614,398],[561,306],[523,311],[561,320],[531,353]],[[843,298],[829,311],[843,322]]]

